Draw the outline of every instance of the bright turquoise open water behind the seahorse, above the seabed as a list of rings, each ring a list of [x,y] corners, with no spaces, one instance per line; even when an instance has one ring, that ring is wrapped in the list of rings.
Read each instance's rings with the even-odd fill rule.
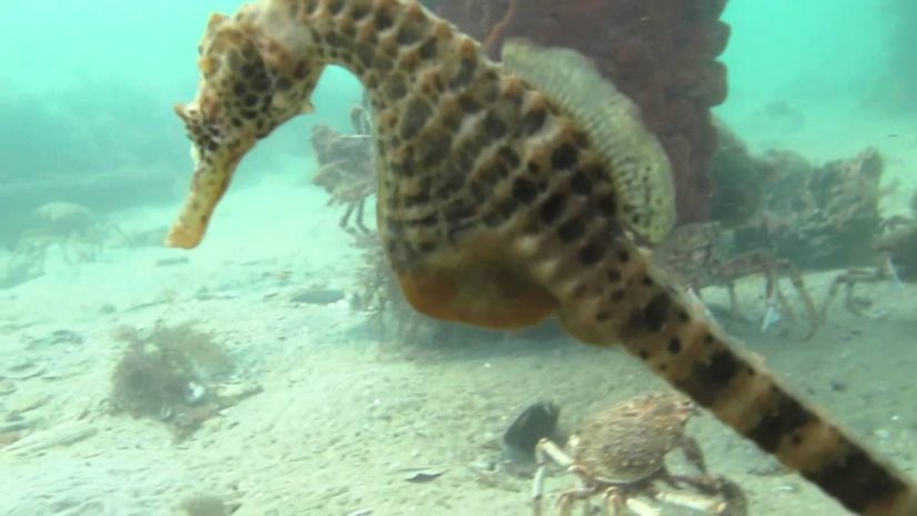
[[[896,100],[904,102],[914,86],[896,79],[904,73],[897,53],[908,41],[896,39],[896,17],[907,8],[894,3],[731,2],[724,18],[732,36],[722,57],[730,95],[718,112],[744,133],[757,129],[756,110],[774,102],[814,120],[838,112],[899,113],[908,106]],[[0,75],[3,178],[92,173],[126,163],[183,173],[175,171],[186,161],[170,108],[197,83],[189,54],[201,20],[236,7],[176,0],[9,6],[0,20],[0,43],[16,49],[6,52]],[[346,127],[341,113],[359,98],[353,80],[329,70],[316,95],[310,121]],[[23,128],[18,121],[27,117],[31,122]],[[292,135],[301,130],[285,127],[261,153],[300,152]]]

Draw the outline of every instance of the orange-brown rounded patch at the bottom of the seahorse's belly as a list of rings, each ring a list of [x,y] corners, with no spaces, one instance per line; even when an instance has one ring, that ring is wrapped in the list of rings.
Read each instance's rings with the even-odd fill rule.
[[[437,319],[492,329],[537,325],[557,309],[544,287],[499,264],[458,264],[398,275],[408,301]]]

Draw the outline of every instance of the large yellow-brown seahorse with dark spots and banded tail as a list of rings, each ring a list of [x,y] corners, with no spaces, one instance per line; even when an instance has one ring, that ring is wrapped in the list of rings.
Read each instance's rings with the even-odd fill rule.
[[[556,315],[581,341],[622,345],[849,510],[917,515],[913,480],[790,393],[638,246],[670,222],[665,175],[640,158],[646,135],[576,98],[610,95],[598,72],[518,48],[548,68],[494,62],[409,0],[260,0],[215,14],[197,96],[176,108],[196,169],[167,244],[201,241],[246,152],[309,112],[322,69],[343,66],[371,100],[379,232],[415,308],[492,328]]]

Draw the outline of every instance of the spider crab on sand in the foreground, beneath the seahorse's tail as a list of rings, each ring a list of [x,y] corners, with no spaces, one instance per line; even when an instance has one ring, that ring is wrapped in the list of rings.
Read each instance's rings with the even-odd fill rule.
[[[568,516],[582,500],[584,514],[591,514],[589,498],[602,495],[605,514],[658,516],[650,498],[705,514],[739,516],[746,514],[741,489],[731,482],[711,476],[700,448],[685,435],[695,413],[694,404],[675,391],[654,393],[628,399],[594,415],[570,437],[568,455],[549,439],[536,445],[538,469],[532,486],[535,516],[542,514],[546,467],[549,460],[575,474],[582,486],[560,495],[559,514]],[[699,476],[672,475],[665,457],[680,448]],[[660,489],[666,483],[675,489]],[[682,488],[687,486],[690,489]]]

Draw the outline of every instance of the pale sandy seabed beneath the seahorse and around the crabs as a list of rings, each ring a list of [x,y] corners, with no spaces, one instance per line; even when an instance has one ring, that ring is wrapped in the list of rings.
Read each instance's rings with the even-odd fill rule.
[[[303,287],[348,297],[358,288],[361,254],[338,229],[339,211],[323,205],[312,187],[266,181],[230,194],[200,249],[110,249],[68,265],[51,248],[44,276],[0,291],[0,365],[41,370],[8,381],[0,415],[28,415],[37,421],[30,431],[72,433],[44,449],[0,448],[0,514],[169,515],[189,496],[212,495],[241,503],[239,516],[527,515],[532,468],[501,467],[500,450],[524,407],[554,400],[572,430],[606,405],[661,387],[622,351],[557,331],[407,345],[346,299],[291,302]],[[117,222],[165,228],[176,209],[120,214]],[[187,261],[157,265],[176,257]],[[834,276],[806,277],[818,302]],[[808,341],[805,319],[758,331],[760,278],[739,291],[752,321],[724,320],[727,330],[914,474],[917,286],[859,287],[873,301],[869,316],[846,314],[838,299]],[[704,297],[725,306],[719,289]],[[124,349],[114,329],[158,321],[211,331],[263,391],[181,441],[161,423],[112,414],[111,374]],[[61,330],[80,339],[49,339]],[[843,513],[710,415],[695,417],[688,433],[712,473],[744,487],[751,515]],[[409,482],[415,468],[441,476]],[[555,470],[547,485],[550,505],[577,482]]]

